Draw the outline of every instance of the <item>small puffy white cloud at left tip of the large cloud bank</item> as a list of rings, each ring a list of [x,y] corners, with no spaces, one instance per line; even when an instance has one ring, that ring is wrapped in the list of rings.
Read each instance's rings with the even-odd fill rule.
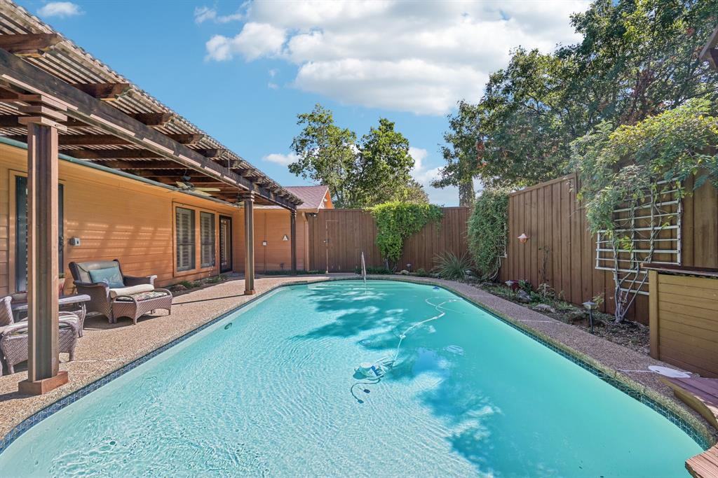
[[[281,52],[284,29],[270,24],[246,23],[235,37],[215,35],[207,42],[207,56],[223,61],[241,54],[248,62],[259,57],[272,57]]]

